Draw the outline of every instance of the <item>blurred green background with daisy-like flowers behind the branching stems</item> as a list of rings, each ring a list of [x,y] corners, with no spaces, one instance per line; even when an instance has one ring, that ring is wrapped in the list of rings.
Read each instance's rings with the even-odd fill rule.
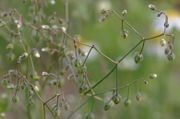
[[[49,1],[45,12],[51,15],[54,11],[59,16],[64,16],[63,0],[55,0],[55,4]],[[123,39],[121,35],[121,22],[114,15],[105,22],[99,23],[100,9],[114,9],[121,13],[127,9],[127,20],[137,28],[144,36],[152,36],[161,32],[157,26],[159,23],[155,14],[148,9],[148,4],[155,4],[159,9],[166,11],[170,18],[170,33],[175,34],[175,54],[176,59],[169,62],[159,45],[159,40],[148,41],[145,45],[144,61],[140,64],[133,62],[134,53],[131,53],[125,61],[119,65],[119,86],[147,77],[151,73],[157,73],[158,79],[153,80],[149,85],[142,82],[130,88],[130,99],[132,104],[125,107],[123,104],[114,106],[108,112],[103,111],[102,105],[94,109],[96,119],[179,119],[180,118],[180,1],[179,0],[69,0],[70,8],[70,33],[81,36],[82,42],[96,44],[97,47],[112,59],[118,59],[127,52],[136,42],[138,37],[129,30],[129,37]],[[0,10],[18,9],[26,15],[28,4],[23,4],[21,0],[0,0]],[[159,19],[161,20],[161,19]],[[157,22],[157,23],[156,23]],[[179,25],[179,26],[178,26]],[[8,37],[1,35],[0,30],[0,74],[4,74],[12,66],[6,60],[8,50],[6,49]],[[29,36],[27,36],[28,38]],[[83,49],[84,47],[82,47]],[[87,50],[87,48],[84,48]],[[91,82],[98,81],[113,65],[106,59],[93,52],[88,60],[88,75]],[[112,74],[96,89],[101,92],[111,89],[115,85]],[[136,101],[137,92],[141,92],[144,99]],[[127,89],[120,90],[122,97],[127,96]],[[7,109],[7,97],[3,89],[0,91],[0,113],[10,115],[16,110]],[[12,106],[12,105],[11,105]],[[13,105],[14,106],[14,105]],[[14,108],[14,107],[13,107]],[[11,111],[13,113],[11,113]],[[20,115],[20,113],[18,113]],[[21,116],[9,117],[6,119],[23,119]],[[0,117],[1,118],[1,117]],[[75,119],[75,118],[74,118]]]

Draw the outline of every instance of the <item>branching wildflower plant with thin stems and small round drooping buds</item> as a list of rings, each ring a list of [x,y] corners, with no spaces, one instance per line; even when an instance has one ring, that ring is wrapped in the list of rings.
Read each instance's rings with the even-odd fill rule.
[[[109,9],[101,10],[100,22],[104,22],[112,15],[120,20],[122,23],[122,39],[127,39],[130,35],[126,29],[127,27],[134,31],[139,38],[139,41],[122,55],[120,59],[113,60],[96,45],[86,44],[81,42],[77,36],[71,35],[68,0],[64,2],[64,17],[59,17],[57,13],[51,16],[45,15],[44,8],[47,4],[46,1],[23,0],[23,2],[30,4],[31,11],[28,14],[31,17],[22,15],[17,9],[1,11],[0,27],[4,31],[2,34],[10,37],[6,46],[9,51],[7,57],[13,62],[13,68],[3,75],[1,86],[13,91],[13,103],[25,100],[27,112],[29,111],[27,113],[28,119],[32,118],[30,113],[32,111],[31,105],[35,104],[36,101],[41,105],[40,112],[43,113],[43,119],[46,119],[48,115],[51,115],[54,119],[73,118],[77,111],[92,100],[93,103],[91,103],[90,111],[85,115],[86,119],[95,117],[93,107],[96,101],[104,104],[105,111],[122,101],[124,101],[125,106],[129,106],[133,103],[129,98],[130,87],[141,81],[148,84],[152,79],[157,78],[157,74],[153,73],[146,78],[136,79],[123,86],[119,86],[118,65],[133,51],[136,51],[138,47],[140,47],[140,50],[137,50],[134,62],[141,63],[146,59],[143,55],[145,44],[148,45],[148,41],[158,37],[163,37],[160,45],[166,47],[164,52],[167,59],[171,61],[175,58],[173,53],[175,36],[166,32],[169,27],[168,16],[165,12],[158,10],[155,5],[150,4],[148,7],[157,14],[157,17],[164,17],[164,30],[162,33],[150,37],[143,36],[126,20],[127,10],[122,12]],[[26,37],[28,34],[31,34],[31,36]],[[86,55],[81,49],[81,45],[89,48]],[[21,52],[20,54],[16,53],[17,47]],[[88,67],[86,66],[92,50],[113,64],[113,67],[95,83],[92,83],[91,79],[88,78]],[[105,88],[104,92],[96,91],[95,88],[112,74],[115,74],[114,88],[109,90]],[[76,84],[80,97],[84,101],[74,109],[69,109],[69,102],[63,91],[64,85],[68,82]],[[125,88],[128,89],[128,94],[125,100],[123,100],[119,90]],[[47,89],[51,89],[50,94],[47,94]],[[107,93],[111,93],[111,96],[104,100],[103,94]],[[140,93],[137,94],[136,99],[142,99]]]

